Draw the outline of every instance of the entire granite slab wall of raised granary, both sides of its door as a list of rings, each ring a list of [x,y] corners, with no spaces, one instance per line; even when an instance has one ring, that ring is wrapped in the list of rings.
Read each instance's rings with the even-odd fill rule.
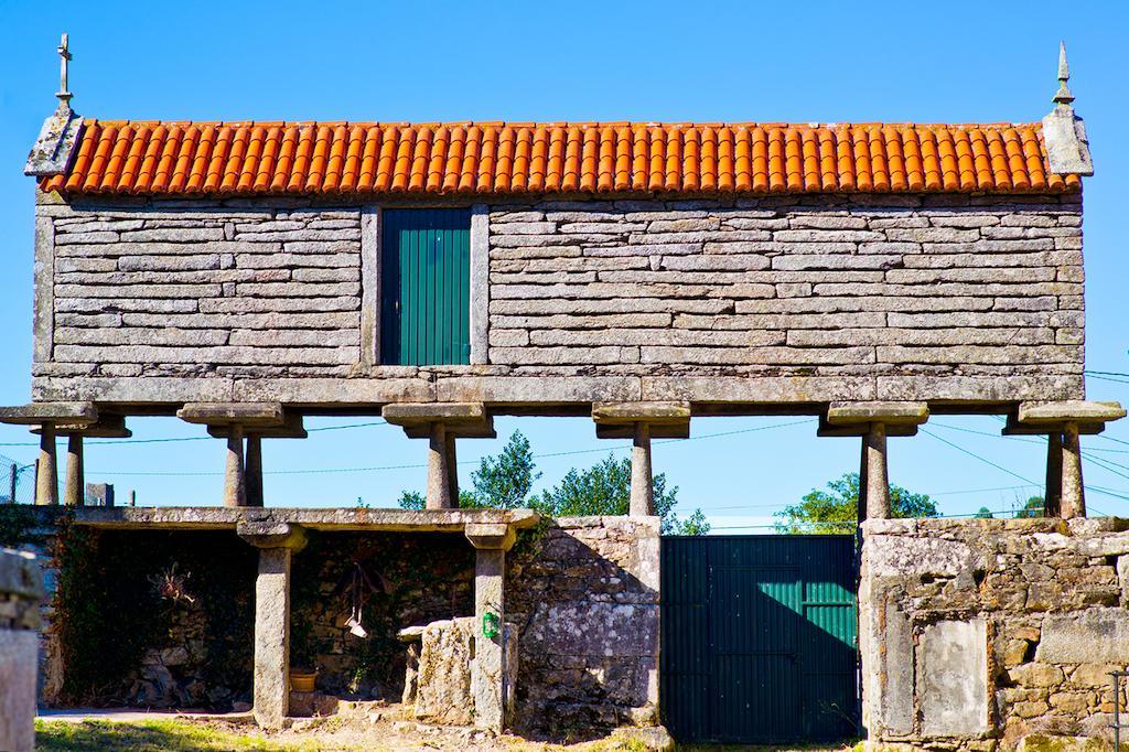
[[[1076,194],[545,201],[478,213],[472,265],[487,254],[489,271],[472,285],[475,365],[403,367],[375,358],[371,207],[41,198],[35,399],[1083,396]]]

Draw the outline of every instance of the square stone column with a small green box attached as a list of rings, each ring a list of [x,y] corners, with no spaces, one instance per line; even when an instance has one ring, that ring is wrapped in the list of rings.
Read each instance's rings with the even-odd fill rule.
[[[506,551],[515,541],[505,523],[472,523],[466,537],[475,548],[474,561],[474,665],[471,694],[474,725],[500,734],[506,727],[514,688],[506,671]]]

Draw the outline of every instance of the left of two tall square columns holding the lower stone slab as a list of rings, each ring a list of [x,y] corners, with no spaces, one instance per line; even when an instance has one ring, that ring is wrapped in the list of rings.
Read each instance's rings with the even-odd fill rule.
[[[306,544],[288,523],[239,523],[239,537],[259,549],[255,578],[254,714],[260,726],[282,728],[290,706],[290,560]]]

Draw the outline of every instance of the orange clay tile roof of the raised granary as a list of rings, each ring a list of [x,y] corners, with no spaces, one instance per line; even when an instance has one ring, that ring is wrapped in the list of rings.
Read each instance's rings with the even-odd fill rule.
[[[1039,123],[87,120],[67,194],[1069,192]]]

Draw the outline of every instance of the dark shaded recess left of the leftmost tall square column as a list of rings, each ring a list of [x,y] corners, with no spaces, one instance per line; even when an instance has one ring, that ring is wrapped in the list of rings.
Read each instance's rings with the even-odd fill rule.
[[[251,697],[256,552],[228,532],[64,528],[56,705],[230,710]]]

